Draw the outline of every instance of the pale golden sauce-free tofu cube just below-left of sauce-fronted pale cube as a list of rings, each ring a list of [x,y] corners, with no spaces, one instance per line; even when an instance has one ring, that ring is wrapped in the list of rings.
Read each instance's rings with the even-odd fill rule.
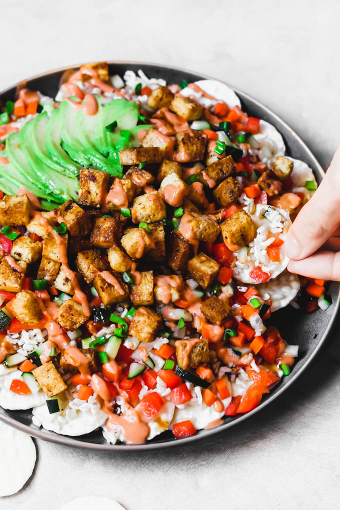
[[[157,191],[152,191],[134,199],[131,215],[134,223],[141,221],[154,223],[166,218],[167,211],[160,194]]]

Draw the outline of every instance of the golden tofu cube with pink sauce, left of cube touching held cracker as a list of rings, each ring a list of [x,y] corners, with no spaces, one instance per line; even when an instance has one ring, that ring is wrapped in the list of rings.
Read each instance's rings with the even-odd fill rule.
[[[207,214],[185,213],[179,223],[179,232],[190,232],[193,239],[213,243],[220,233],[220,225]]]

